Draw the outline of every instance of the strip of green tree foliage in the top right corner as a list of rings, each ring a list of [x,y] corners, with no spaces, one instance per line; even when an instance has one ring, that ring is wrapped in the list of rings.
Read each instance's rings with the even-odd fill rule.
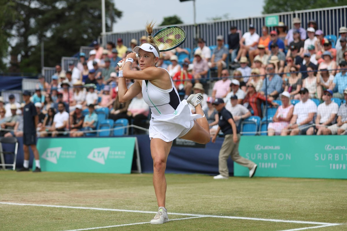
[[[347,0],[265,0],[264,3],[263,14],[273,14],[294,10],[344,6],[347,5]]]

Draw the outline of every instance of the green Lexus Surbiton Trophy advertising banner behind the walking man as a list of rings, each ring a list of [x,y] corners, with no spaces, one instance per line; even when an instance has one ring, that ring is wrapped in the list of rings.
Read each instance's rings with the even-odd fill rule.
[[[258,165],[255,176],[347,179],[344,135],[242,136],[239,151]],[[234,162],[234,176],[248,169]]]

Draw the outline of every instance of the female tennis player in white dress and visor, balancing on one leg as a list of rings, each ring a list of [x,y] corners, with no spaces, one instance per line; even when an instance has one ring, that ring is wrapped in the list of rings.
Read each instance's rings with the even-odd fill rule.
[[[159,206],[151,224],[162,224],[169,221],[165,208],[165,169],[172,141],[181,137],[206,144],[210,141],[210,129],[201,108],[202,94],[190,95],[187,100],[180,102],[168,71],[155,66],[159,59],[159,49],[151,36],[153,26],[153,23],[146,25],[149,34],[147,43],[134,48],[138,54],[141,71],[131,69],[136,53],[128,54],[121,61],[119,77],[123,78],[119,78],[118,95],[119,101],[125,102],[142,91],[143,99],[151,108],[149,136],[153,159],[153,185]],[[128,89],[125,79],[135,79],[135,83]],[[197,114],[191,113],[188,103],[195,107]]]

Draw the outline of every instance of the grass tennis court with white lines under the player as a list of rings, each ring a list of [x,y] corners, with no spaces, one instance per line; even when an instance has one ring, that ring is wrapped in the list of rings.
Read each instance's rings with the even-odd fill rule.
[[[171,221],[151,225],[158,210],[152,174],[0,176],[2,231],[347,230],[346,180],[168,174]]]

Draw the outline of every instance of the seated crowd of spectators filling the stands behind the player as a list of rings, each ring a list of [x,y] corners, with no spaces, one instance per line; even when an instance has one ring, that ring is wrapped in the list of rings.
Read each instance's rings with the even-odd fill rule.
[[[264,26],[261,35],[252,24],[244,34],[231,26],[228,35],[217,36],[215,46],[197,39],[191,58],[187,48],[160,52],[158,66],[168,70],[181,100],[192,92],[204,95],[202,108],[211,133],[219,120],[212,103],[221,98],[238,127],[243,119],[259,116],[270,122],[269,136],[345,134],[347,28],[339,28],[335,41],[324,37],[314,20],[306,29],[299,18],[292,24],[287,30],[279,22],[270,32]],[[78,137],[94,132],[101,122],[98,112],[102,108],[107,108],[106,118],[125,118],[130,124],[146,127],[150,109],[141,94],[125,103],[118,100],[117,65],[144,42],[145,36],[140,43],[132,39],[127,47],[118,38],[117,45],[108,42],[103,48],[94,41],[88,55],[79,53],[76,66],[69,62],[65,71],[57,64],[51,82],[39,76],[31,96],[39,115],[37,133],[54,137],[70,131],[70,136]],[[139,70],[136,60],[132,68]],[[210,78],[212,75],[218,79]],[[132,83],[127,79],[128,87]],[[0,97],[1,136],[23,136],[24,105],[18,101],[21,99],[15,95]],[[268,108],[274,109],[273,114],[265,112]]]

